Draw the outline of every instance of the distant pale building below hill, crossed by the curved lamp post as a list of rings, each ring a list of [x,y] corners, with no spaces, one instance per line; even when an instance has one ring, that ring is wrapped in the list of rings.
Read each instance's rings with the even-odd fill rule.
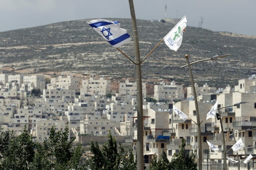
[[[209,87],[207,83],[203,85],[203,87],[199,87],[197,83],[195,83],[195,90],[196,90],[196,95],[204,95],[208,93],[214,93],[217,89],[216,87]],[[193,97],[193,88],[192,87],[187,87],[187,98]]]

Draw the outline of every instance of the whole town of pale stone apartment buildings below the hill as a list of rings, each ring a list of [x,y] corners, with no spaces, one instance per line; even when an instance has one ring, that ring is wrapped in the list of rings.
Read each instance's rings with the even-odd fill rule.
[[[216,89],[205,84],[195,84],[201,123],[203,159],[211,153],[206,142],[223,150],[220,122],[217,118],[204,119],[216,101],[220,107],[239,102],[243,105],[221,109],[227,155],[238,159],[230,149],[236,140],[242,138],[247,154],[254,154],[256,146],[256,76],[241,79],[234,88],[227,86]],[[69,123],[70,137],[79,135],[102,136],[110,129],[114,136],[124,136],[137,147],[137,101],[136,82],[119,82],[119,89],[111,87],[111,80],[100,77],[79,79],[72,75],[50,78],[46,83],[43,75],[0,74],[0,126],[4,130],[14,130],[19,135],[24,126],[28,127],[34,139],[43,142],[49,137],[53,124],[56,130],[64,130]],[[34,97],[33,90],[40,89],[41,96]],[[195,103],[192,88],[183,85],[161,82],[154,86],[156,103],[143,101],[144,162],[166,152],[171,159],[179,151],[182,138],[186,139],[186,149],[198,146]],[[142,94],[146,98],[146,83],[142,83]],[[111,96],[111,97],[106,97]],[[187,100],[185,100],[187,98]],[[164,101],[164,102],[163,102]],[[175,102],[174,102],[175,101]],[[173,106],[190,119],[183,121],[173,112]],[[249,130],[248,130],[249,129]],[[250,130],[252,129],[252,130]],[[241,133],[239,132],[241,131]],[[230,135],[235,133],[235,135]],[[244,152],[239,151],[239,159]],[[222,153],[209,158],[211,163],[223,164]]]

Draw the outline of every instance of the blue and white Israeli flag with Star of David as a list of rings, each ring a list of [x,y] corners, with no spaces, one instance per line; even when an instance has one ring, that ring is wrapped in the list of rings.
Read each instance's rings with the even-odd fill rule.
[[[115,48],[131,40],[127,31],[120,28],[120,22],[118,21],[96,19],[87,23]]]

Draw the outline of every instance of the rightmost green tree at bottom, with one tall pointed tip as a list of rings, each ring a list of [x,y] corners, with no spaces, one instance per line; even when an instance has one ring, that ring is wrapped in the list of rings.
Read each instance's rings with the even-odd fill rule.
[[[174,153],[169,170],[197,170],[196,151],[185,150],[186,140],[182,138],[179,153]]]

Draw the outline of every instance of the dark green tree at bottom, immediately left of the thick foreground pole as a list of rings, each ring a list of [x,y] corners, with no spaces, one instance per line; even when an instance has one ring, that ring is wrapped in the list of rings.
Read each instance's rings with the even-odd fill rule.
[[[127,151],[119,143],[118,150],[115,138],[111,135],[109,130],[108,141],[99,147],[98,142],[91,140],[90,151],[94,154],[91,156],[90,169],[92,170],[136,170],[137,162],[134,159],[132,150]]]

